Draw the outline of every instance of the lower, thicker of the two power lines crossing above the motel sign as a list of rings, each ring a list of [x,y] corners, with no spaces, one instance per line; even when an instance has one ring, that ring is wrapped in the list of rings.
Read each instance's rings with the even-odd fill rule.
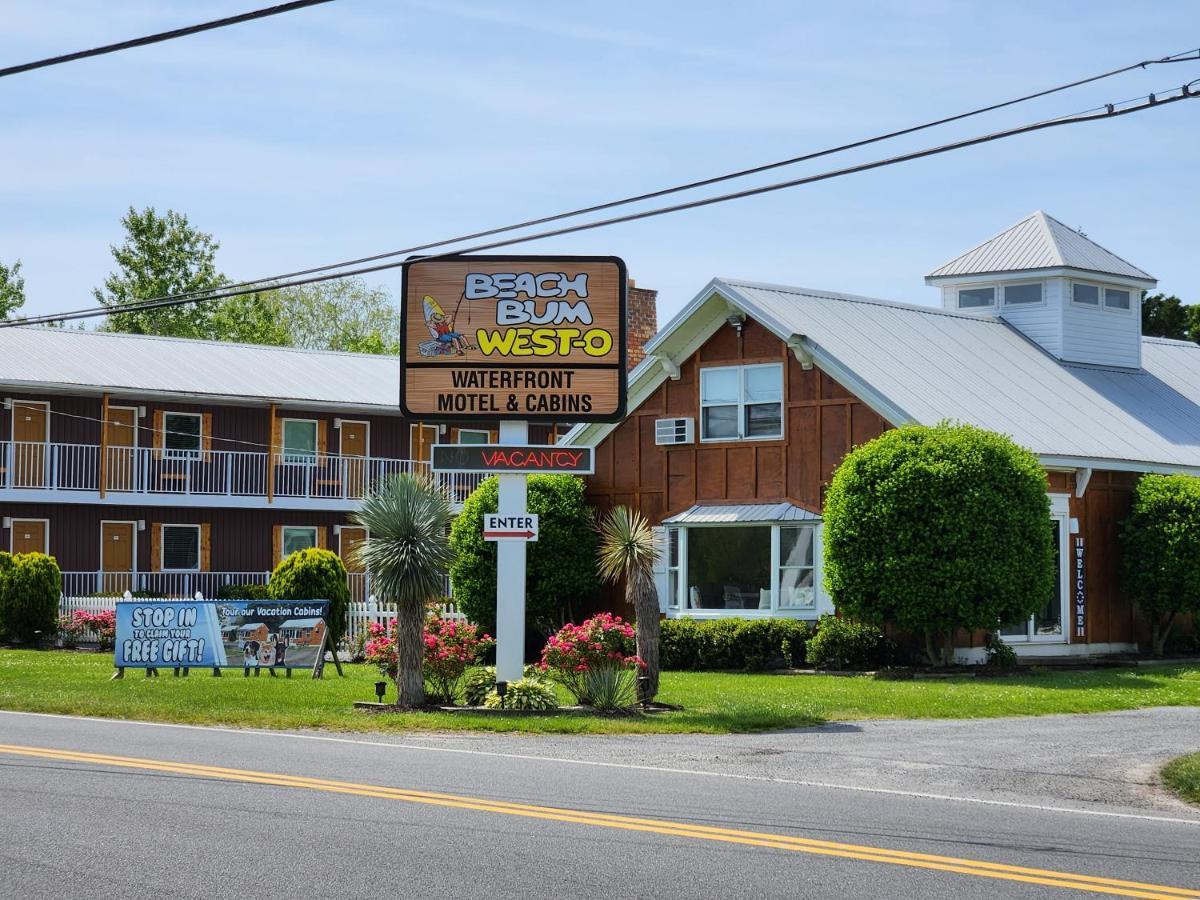
[[[469,247],[458,247],[456,250],[444,251],[442,253],[431,253],[428,256],[420,257],[419,259],[403,259],[398,262],[379,263],[376,265],[349,269],[347,271],[316,275],[306,278],[289,280],[286,282],[276,283],[274,287],[287,288],[287,287],[299,287],[302,284],[314,284],[326,281],[334,281],[336,278],[344,278],[353,275],[365,275],[368,272],[384,271],[388,269],[398,269],[407,265],[412,265],[413,263],[416,262],[439,259],[443,257],[457,256],[460,253],[478,253],[486,250],[508,247],[515,244],[524,244],[528,241],[542,240],[546,238],[557,238],[565,234],[576,234],[580,232],[587,232],[595,228],[606,228],[608,226],[620,224],[625,222],[636,222],[644,218],[654,218],[658,216],[665,216],[673,212],[682,212],[685,210],[710,206],[718,203],[727,203],[730,200],[744,199],[746,197],[757,197],[760,194],[782,191],[790,187],[798,187],[800,185],[809,185],[817,181],[828,181],[830,179],[842,178],[845,175],[858,174],[862,172],[870,172],[872,169],[884,168],[887,166],[895,166],[901,162],[911,162],[913,160],[922,160],[930,156],[937,156],[941,154],[950,152],[952,150],[961,150],[968,146],[977,146],[979,144],[990,143],[992,140],[1002,140],[1006,138],[1015,137],[1018,134],[1025,134],[1033,131],[1044,131],[1046,128],[1055,128],[1066,125],[1080,125],[1084,122],[1099,121],[1103,119],[1114,119],[1122,115],[1129,115],[1132,113],[1140,113],[1146,109],[1154,109],[1169,106],[1181,100],[1190,100],[1194,97],[1200,97],[1200,94],[1196,94],[1195,91],[1192,90],[1193,86],[1198,83],[1200,83],[1200,79],[1184,84],[1182,88],[1175,89],[1176,91],[1178,91],[1177,94],[1172,94],[1170,96],[1160,96],[1158,94],[1147,95],[1144,103],[1140,103],[1139,106],[1126,107],[1123,109],[1116,108],[1116,104],[1105,104],[1104,107],[1098,108],[1100,112],[1087,112],[1084,114],[1064,115],[1064,116],[1057,116],[1055,119],[1045,119],[1038,122],[1031,122],[1028,125],[1020,125],[1014,128],[995,131],[973,138],[965,138],[962,140],[954,140],[946,144],[938,144],[935,146],[924,148],[922,150],[914,150],[907,154],[899,154],[896,156],[888,156],[880,160],[872,160],[870,162],[858,163],[854,166],[846,166],[840,169],[830,169],[814,175],[804,175],[802,178],[788,179],[786,181],[776,181],[768,185],[760,185],[757,187],[748,187],[742,191],[732,191],[728,193],[715,194],[712,197],[702,197],[700,199],[686,200],[683,203],[677,203],[667,206],[656,206],[649,210],[628,212],[622,216],[611,216],[608,218],[593,220],[580,224],[564,226],[562,228],[552,228],[542,232],[535,232],[533,234],[518,235],[516,238],[508,238],[504,240],[491,241],[486,244],[475,244]],[[13,328],[17,325],[37,325],[37,324],[47,324],[50,322],[66,322],[71,319],[95,318],[97,316],[120,314],[126,312],[144,312],[149,310],[158,310],[169,306],[181,306],[185,304],[202,302],[209,300],[226,300],[234,296],[245,296],[246,294],[253,294],[260,289],[263,289],[262,286],[251,288],[239,288],[239,289],[217,289],[199,296],[196,295],[170,296],[170,298],[148,300],[140,304],[130,304],[127,306],[112,307],[112,308],[103,306],[90,307],[86,310],[76,310],[72,312],[54,313],[49,316],[37,316],[20,320],[0,322],[0,328]]]

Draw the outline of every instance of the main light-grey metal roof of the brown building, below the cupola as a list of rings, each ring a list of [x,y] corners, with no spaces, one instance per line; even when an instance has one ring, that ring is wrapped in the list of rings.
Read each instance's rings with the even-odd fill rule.
[[[659,358],[680,362],[730,306],[811,354],[893,425],[968,422],[1012,436],[1048,466],[1200,472],[1198,344],[1142,338],[1141,370],[1067,364],[1000,318],[733,278],[714,278],[647,344],[630,374],[631,409],[668,377]],[[611,427],[577,426],[565,440],[595,444]]]

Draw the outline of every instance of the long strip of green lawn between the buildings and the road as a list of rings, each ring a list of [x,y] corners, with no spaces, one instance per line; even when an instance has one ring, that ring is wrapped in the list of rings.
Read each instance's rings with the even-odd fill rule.
[[[156,679],[130,671],[108,680],[112,656],[0,650],[0,708],[43,713],[238,725],[260,728],[407,731],[474,728],[538,732],[737,732],[852,719],[943,719],[1097,713],[1152,706],[1200,706],[1200,668],[1164,666],[1096,672],[1044,672],[1008,678],[876,680],[868,677],[667,672],[660,700],[684,712],[636,718],[486,716],[452,713],[370,715],[355,700],[374,700],[376,672],[349,666],[347,677],[212,678],[193,671]]]

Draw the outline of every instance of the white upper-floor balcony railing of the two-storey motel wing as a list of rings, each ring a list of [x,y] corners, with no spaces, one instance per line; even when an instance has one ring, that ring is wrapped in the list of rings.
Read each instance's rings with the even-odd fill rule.
[[[0,497],[7,490],[356,500],[391,475],[427,470],[425,462],[372,456],[0,442]],[[468,473],[436,478],[455,505],[482,479]]]

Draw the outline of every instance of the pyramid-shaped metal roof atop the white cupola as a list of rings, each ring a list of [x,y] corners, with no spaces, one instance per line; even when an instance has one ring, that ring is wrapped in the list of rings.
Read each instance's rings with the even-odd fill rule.
[[[925,278],[1033,269],[1080,269],[1139,281],[1154,281],[1153,275],[1126,262],[1042,210],[940,265]]]

